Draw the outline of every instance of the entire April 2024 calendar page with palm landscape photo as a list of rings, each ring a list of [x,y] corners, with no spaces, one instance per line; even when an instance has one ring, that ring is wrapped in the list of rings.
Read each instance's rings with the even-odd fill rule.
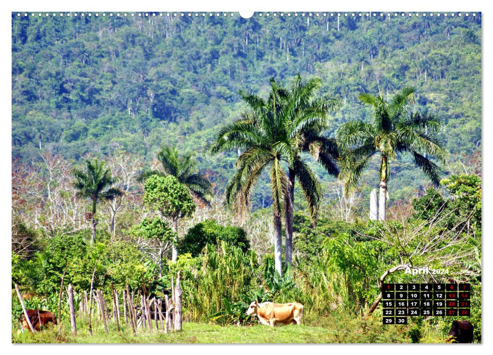
[[[12,343],[482,342],[479,9],[139,6],[11,13]]]

